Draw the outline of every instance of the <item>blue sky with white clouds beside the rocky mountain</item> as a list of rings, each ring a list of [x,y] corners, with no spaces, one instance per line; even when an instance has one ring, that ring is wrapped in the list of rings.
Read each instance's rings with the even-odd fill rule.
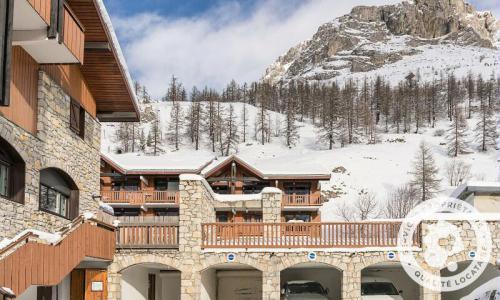
[[[500,15],[499,0],[472,0]],[[132,76],[155,97],[175,75],[222,88],[258,80],[290,47],[356,5],[400,0],[104,0]],[[500,7],[500,6],[499,6]]]

